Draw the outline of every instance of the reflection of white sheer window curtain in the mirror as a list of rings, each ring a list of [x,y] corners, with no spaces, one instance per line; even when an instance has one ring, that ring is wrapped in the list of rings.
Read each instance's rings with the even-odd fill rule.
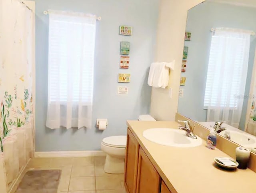
[[[251,32],[217,28],[212,35],[204,107],[207,121],[238,127],[244,101]]]

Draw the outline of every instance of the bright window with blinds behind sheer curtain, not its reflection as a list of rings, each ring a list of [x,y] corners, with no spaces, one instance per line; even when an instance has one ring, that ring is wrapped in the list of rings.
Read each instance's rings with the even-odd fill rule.
[[[91,103],[95,24],[90,18],[53,17],[49,26],[50,102],[71,98],[72,101]]]

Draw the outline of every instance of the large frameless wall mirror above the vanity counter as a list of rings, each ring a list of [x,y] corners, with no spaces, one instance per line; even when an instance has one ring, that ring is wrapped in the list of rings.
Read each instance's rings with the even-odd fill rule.
[[[188,11],[178,113],[256,147],[256,1],[206,0]]]

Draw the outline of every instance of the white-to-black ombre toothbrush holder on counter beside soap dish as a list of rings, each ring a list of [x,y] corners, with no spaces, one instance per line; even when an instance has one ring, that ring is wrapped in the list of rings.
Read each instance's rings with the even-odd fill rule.
[[[236,148],[236,161],[239,163],[239,169],[246,169],[247,163],[250,158],[250,151],[245,149],[244,147],[237,147]]]

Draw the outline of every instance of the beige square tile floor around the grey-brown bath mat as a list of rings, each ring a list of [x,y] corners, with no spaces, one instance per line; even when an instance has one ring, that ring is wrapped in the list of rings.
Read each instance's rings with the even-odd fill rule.
[[[19,182],[31,169],[61,169],[58,193],[126,193],[124,174],[105,173],[104,163],[105,157],[34,158]]]

